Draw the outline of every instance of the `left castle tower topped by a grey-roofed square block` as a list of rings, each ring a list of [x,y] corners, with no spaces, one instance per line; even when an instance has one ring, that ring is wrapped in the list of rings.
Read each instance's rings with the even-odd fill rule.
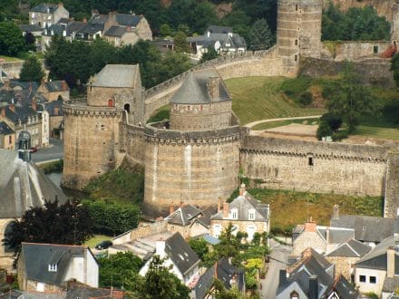
[[[117,167],[120,124],[144,122],[138,65],[108,64],[88,84],[86,101],[64,103],[63,181],[83,188],[93,177]]]

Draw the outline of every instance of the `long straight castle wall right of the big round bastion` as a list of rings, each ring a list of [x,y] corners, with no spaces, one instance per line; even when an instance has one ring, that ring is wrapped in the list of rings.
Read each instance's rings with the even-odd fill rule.
[[[359,196],[384,195],[383,147],[246,136],[244,175],[263,188]]]

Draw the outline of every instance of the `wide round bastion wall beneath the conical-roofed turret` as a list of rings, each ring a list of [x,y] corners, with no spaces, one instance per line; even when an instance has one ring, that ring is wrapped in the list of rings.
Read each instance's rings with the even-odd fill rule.
[[[168,214],[180,202],[215,206],[237,188],[240,129],[178,131],[147,126],[144,207]],[[212,175],[209,175],[212,174]]]

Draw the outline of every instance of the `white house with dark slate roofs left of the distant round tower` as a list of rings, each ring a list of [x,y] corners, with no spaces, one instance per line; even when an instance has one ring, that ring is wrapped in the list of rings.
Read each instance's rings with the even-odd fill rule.
[[[219,54],[244,53],[247,43],[239,34],[233,34],[232,27],[210,25],[203,35],[187,38],[195,58],[200,59],[208,48],[215,49]]]

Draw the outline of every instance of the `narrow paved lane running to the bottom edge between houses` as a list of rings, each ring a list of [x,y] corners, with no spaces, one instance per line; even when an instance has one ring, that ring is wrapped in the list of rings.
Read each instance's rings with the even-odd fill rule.
[[[260,284],[262,284],[260,298],[265,299],[276,298],[279,271],[286,266],[285,263],[292,251],[292,247],[280,245],[273,239],[270,240],[270,247],[272,252],[268,263],[268,273],[265,279],[260,280]]]

